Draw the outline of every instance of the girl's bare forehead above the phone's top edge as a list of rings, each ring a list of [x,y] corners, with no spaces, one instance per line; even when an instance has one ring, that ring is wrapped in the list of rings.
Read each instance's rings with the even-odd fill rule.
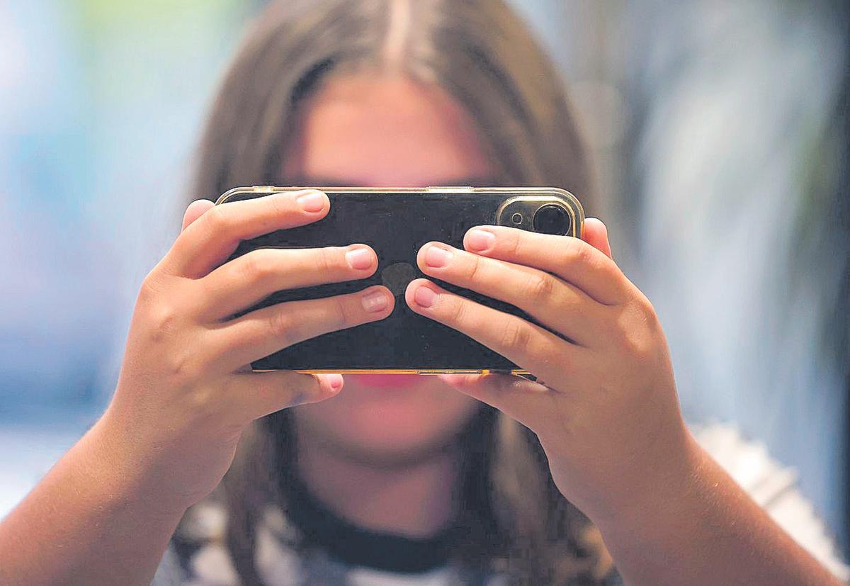
[[[286,177],[445,185],[493,168],[473,120],[444,90],[404,77],[332,78],[303,109]]]

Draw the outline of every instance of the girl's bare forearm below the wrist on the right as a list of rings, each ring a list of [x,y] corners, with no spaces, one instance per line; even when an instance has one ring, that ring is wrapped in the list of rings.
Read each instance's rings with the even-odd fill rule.
[[[688,438],[643,504],[598,521],[626,583],[839,583]]]

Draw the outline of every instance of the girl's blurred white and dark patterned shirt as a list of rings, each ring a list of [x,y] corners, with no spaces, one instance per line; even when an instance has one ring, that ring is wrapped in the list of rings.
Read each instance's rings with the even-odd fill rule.
[[[796,488],[793,469],[777,464],[762,444],[743,440],[734,427],[712,424],[694,426],[692,431],[700,445],[797,543],[836,577],[850,580],[850,568],[836,553],[825,524]],[[206,502],[195,505],[184,531],[207,544],[193,552],[184,564],[180,563],[173,544],[170,545],[152,586],[239,584],[224,546],[225,524],[226,513],[222,505]],[[362,535],[371,539],[363,550],[368,553],[371,548],[371,555],[340,549],[335,554],[315,549],[308,555],[297,555],[286,545],[298,538],[297,526],[280,509],[269,507],[263,511],[258,524],[255,566],[267,586],[449,586],[462,583],[507,586],[512,583],[507,573],[463,574],[463,570],[449,564],[422,566],[419,561],[434,548],[439,549],[444,536],[428,540],[366,531]],[[386,552],[390,554],[382,555]],[[606,584],[621,584],[621,578],[612,572]]]

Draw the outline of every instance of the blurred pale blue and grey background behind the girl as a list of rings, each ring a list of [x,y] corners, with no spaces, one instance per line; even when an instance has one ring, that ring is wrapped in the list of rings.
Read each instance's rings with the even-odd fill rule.
[[[683,411],[796,470],[848,552],[848,9],[512,0],[561,67]],[[0,0],[0,515],[105,408],[242,0]],[[581,198],[581,194],[577,194]]]

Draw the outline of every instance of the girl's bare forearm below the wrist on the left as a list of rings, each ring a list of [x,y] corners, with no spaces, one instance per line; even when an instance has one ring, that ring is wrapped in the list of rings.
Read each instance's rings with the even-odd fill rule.
[[[101,418],[0,523],[0,583],[150,584],[183,510],[144,496],[108,425]]]

